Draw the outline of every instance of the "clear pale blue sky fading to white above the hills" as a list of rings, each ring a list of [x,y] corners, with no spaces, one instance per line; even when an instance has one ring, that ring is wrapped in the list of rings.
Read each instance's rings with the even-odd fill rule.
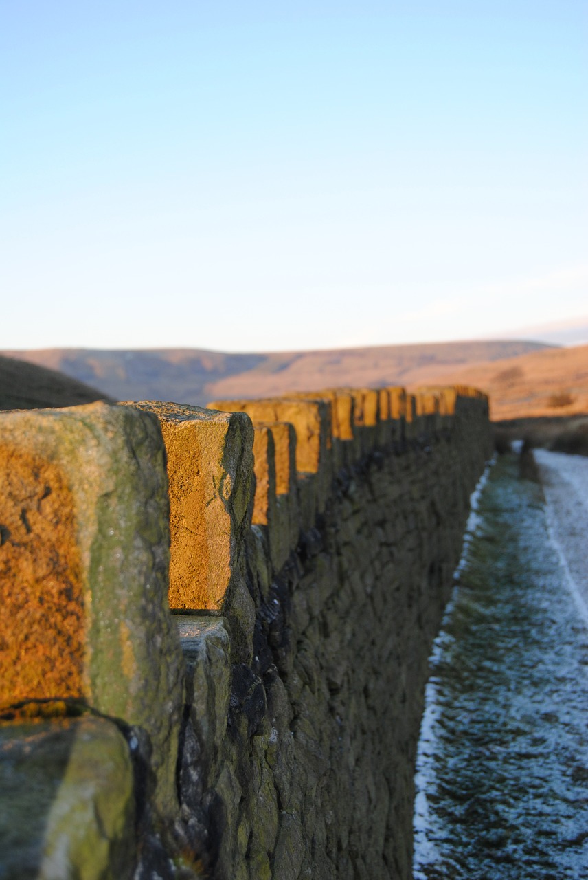
[[[0,5],[0,348],[588,315],[588,4]]]

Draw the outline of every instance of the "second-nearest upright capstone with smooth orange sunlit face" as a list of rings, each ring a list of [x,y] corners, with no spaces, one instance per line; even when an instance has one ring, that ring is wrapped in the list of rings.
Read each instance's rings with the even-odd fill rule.
[[[176,403],[127,404],[161,424],[170,485],[170,607],[220,612],[239,576],[253,429],[243,414]]]

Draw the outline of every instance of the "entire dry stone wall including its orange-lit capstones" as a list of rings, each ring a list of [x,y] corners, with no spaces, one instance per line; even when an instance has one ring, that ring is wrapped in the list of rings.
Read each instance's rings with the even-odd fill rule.
[[[0,416],[0,880],[410,878],[488,401],[210,406]]]

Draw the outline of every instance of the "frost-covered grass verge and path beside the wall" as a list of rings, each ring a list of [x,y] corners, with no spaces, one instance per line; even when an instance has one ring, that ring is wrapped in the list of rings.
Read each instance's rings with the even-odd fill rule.
[[[588,876],[588,458],[498,458],[431,657],[416,880]],[[545,497],[544,497],[545,495]]]

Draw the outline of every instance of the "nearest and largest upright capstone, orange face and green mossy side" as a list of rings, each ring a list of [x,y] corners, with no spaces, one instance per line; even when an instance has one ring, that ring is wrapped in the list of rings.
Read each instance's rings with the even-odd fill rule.
[[[6,413],[0,451],[0,590],[14,611],[0,625],[0,681],[15,687],[4,708],[79,698],[136,725],[152,750],[158,809],[171,812],[183,660],[167,603],[157,421],[104,403]]]

